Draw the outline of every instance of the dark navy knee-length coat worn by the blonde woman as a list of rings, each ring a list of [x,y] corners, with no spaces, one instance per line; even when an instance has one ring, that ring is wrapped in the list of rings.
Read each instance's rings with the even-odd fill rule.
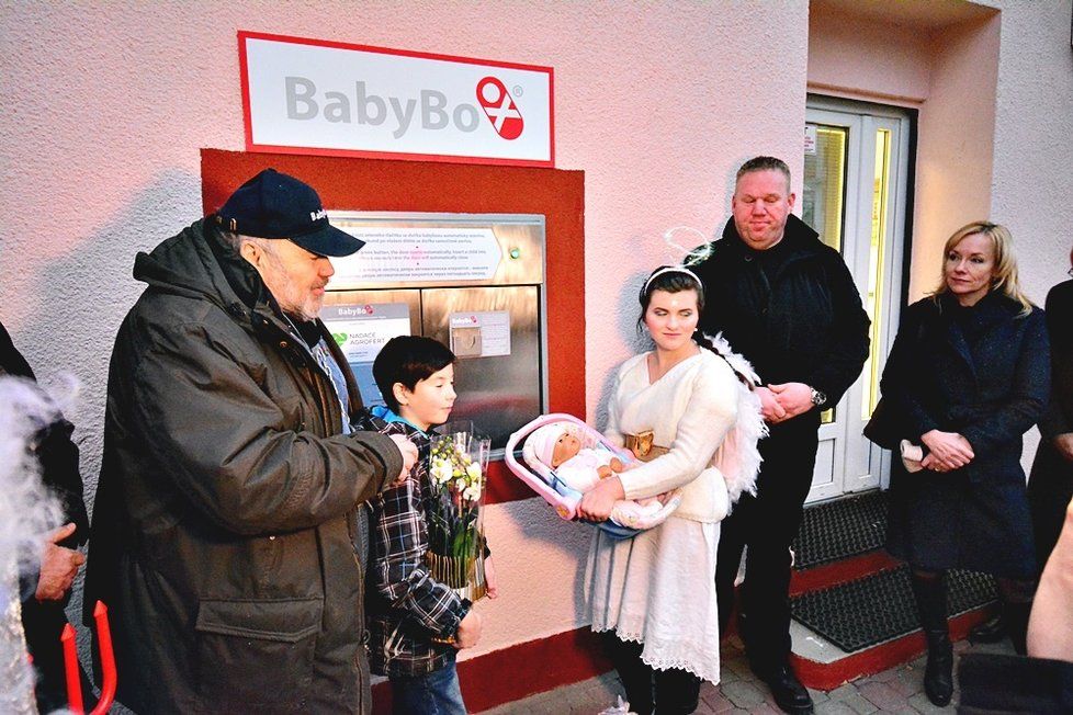
[[[911,475],[896,465],[888,547],[915,566],[1035,577],[1020,456],[1023,435],[1043,413],[1050,370],[1043,311],[1020,309],[991,293],[972,308],[944,296],[905,310],[883,397],[906,439],[919,444],[933,429],[958,432],[975,455],[945,474]]]

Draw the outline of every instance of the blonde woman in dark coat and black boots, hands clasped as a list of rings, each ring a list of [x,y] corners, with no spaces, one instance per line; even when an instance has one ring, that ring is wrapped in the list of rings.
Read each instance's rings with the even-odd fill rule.
[[[1018,285],[1009,230],[962,226],[947,240],[935,293],[905,310],[881,382],[902,436],[926,454],[925,470],[892,479],[888,548],[913,569],[936,705],[953,690],[948,569],[996,577],[1024,652],[1036,559],[1021,438],[1043,413],[1048,363],[1043,311]]]

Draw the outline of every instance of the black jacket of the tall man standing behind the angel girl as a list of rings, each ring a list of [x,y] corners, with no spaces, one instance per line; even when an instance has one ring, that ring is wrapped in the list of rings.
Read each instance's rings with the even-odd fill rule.
[[[868,358],[868,316],[838,251],[792,214],[769,280],[733,218],[693,271],[704,283],[700,327],[722,332],[765,384],[805,383],[834,407]]]

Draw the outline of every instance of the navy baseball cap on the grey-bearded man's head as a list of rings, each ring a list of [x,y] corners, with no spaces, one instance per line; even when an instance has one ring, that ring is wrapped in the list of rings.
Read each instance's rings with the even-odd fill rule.
[[[233,234],[287,238],[318,256],[350,256],[365,245],[328,223],[313,186],[275,169],[236,189],[216,212],[216,224]]]

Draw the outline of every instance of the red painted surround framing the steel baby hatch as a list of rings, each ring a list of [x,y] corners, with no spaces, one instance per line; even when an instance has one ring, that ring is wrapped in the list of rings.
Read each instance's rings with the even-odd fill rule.
[[[549,407],[586,417],[585,172],[202,149],[205,214],[269,167],[312,185],[328,209],[543,214]],[[501,464],[489,469],[489,503],[532,496]]]

